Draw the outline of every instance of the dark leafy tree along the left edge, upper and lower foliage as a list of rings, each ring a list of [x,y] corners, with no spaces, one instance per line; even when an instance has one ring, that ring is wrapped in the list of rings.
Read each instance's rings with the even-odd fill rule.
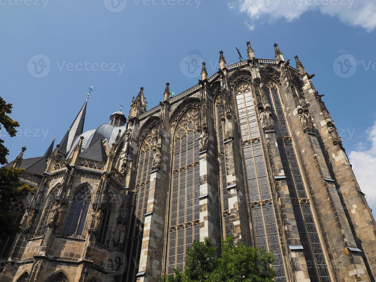
[[[14,137],[17,133],[16,127],[20,126],[17,121],[12,120],[8,114],[12,113],[12,104],[8,104],[0,97],[0,130],[1,125],[8,132],[9,136]],[[9,150],[4,146],[4,140],[0,139],[0,164],[6,164],[6,156]],[[11,211],[12,202],[18,197],[27,195],[33,189],[23,184],[18,177],[24,170],[18,168],[0,168],[0,240],[12,237],[20,231],[20,224],[15,223],[17,214]]]

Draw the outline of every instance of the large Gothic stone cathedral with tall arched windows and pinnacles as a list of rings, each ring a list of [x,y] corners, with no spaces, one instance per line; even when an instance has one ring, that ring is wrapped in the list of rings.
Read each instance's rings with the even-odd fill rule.
[[[0,281],[158,281],[193,240],[233,234],[274,254],[278,282],[374,282],[376,223],[314,75],[247,47],[149,111],[141,88],[127,119],[83,132],[86,100],[55,150],[23,148],[8,166],[37,192],[14,205]]]

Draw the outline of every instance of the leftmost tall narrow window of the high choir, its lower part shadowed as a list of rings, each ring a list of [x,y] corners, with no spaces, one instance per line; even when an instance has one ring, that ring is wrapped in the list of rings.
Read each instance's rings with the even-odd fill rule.
[[[127,234],[126,256],[129,258],[125,273],[127,281],[135,281],[141,256],[147,201],[149,199],[150,174],[153,162],[153,145],[157,127],[153,126],[140,145],[135,193],[132,199],[132,212]]]

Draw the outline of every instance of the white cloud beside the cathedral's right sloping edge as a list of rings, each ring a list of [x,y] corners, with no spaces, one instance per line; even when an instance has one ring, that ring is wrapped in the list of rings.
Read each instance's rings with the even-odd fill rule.
[[[367,133],[369,149],[366,149],[364,143],[360,143],[357,151],[350,152],[349,160],[368,205],[373,209],[373,214],[376,214],[376,122]]]

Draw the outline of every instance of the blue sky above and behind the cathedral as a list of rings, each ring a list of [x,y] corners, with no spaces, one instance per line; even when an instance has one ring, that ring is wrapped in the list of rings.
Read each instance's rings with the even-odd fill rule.
[[[360,168],[367,157],[366,168],[376,169],[373,0],[266,0],[264,7],[264,0],[112,1],[0,0],[0,96],[13,103],[11,116],[21,124],[15,138],[1,131],[9,160],[22,146],[29,158],[42,155],[54,137],[59,142],[91,85],[85,130],[107,123],[120,103],[127,115],[141,86],[150,109],[163,99],[166,82],[176,94],[195,85],[194,59],[206,61],[210,76],[220,50],[227,64],[238,60],[235,47],[246,58],[250,41],[257,58],[273,59],[274,42],[293,65],[299,55],[316,74],[350,158],[354,152]],[[50,64],[38,74],[41,58]],[[349,71],[341,73],[341,64]],[[367,185],[361,171],[358,180]]]

